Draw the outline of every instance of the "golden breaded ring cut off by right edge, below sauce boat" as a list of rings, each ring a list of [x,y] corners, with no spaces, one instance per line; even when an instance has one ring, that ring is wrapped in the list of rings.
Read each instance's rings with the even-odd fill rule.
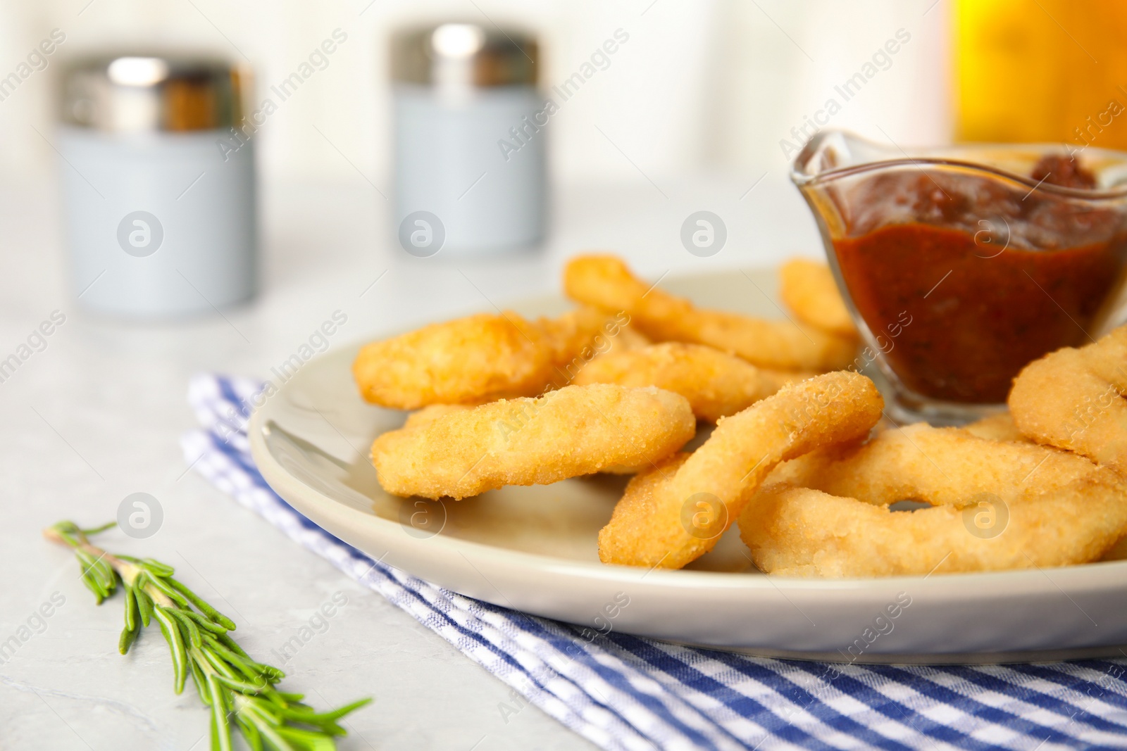
[[[1010,413],[1038,444],[1083,454],[1127,474],[1127,327],[1093,345],[1066,347],[1013,379]]]

